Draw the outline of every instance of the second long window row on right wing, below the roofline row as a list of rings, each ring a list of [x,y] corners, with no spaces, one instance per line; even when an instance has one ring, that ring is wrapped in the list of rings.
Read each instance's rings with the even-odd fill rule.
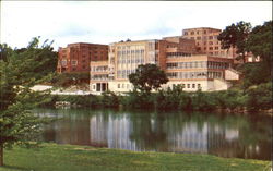
[[[169,78],[221,78],[222,72],[169,72],[166,73]]]

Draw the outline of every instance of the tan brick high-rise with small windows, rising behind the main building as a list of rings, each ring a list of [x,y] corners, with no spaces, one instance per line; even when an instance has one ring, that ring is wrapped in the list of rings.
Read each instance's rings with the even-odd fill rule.
[[[234,59],[235,48],[226,50],[221,47],[221,41],[217,39],[221,32],[210,27],[187,28],[182,30],[182,37],[195,40],[198,53]]]

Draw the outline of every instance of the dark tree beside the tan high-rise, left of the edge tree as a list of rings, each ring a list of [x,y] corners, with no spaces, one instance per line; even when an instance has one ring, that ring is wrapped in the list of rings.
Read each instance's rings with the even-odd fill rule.
[[[229,49],[236,48],[238,60],[242,59],[245,63],[245,53],[247,52],[246,42],[251,30],[251,24],[246,22],[239,22],[236,25],[232,24],[227,26],[218,36],[222,48]]]

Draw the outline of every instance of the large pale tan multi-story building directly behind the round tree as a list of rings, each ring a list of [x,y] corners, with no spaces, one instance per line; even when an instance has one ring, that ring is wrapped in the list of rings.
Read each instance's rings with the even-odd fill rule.
[[[108,73],[108,77],[98,76],[99,83],[92,77],[91,90],[102,91],[103,89],[97,87],[102,87],[103,84],[112,91],[132,90],[133,85],[129,82],[129,74],[135,72],[139,64],[146,63],[157,64],[166,72],[169,82],[163,86],[164,88],[180,84],[185,90],[227,89],[230,86],[228,80],[236,77],[230,76],[234,74],[229,70],[233,59],[198,53],[195,49],[195,40],[181,36],[110,44],[108,70],[99,73],[102,75]],[[105,61],[103,64],[105,69],[106,64]],[[94,69],[99,64],[92,62],[91,66],[93,69],[91,74],[94,74]],[[108,86],[104,82],[108,82]]]

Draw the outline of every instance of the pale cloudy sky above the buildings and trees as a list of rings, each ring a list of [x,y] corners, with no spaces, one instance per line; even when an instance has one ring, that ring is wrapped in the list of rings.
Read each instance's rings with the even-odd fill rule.
[[[0,1],[0,42],[23,48],[33,37],[73,42],[111,44],[180,36],[182,29],[232,23],[252,26],[272,20],[271,1]]]

